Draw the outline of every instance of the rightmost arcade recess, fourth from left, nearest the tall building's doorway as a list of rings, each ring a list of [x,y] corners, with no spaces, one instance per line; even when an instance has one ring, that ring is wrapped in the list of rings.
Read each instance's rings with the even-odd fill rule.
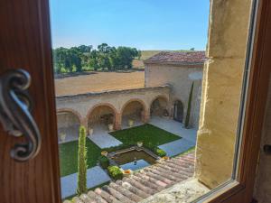
[[[169,98],[164,95],[158,95],[150,103],[150,116],[169,116],[168,112]]]

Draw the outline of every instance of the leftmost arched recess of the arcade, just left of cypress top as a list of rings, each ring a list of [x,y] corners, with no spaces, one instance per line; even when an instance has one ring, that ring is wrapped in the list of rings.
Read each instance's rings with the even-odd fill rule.
[[[59,142],[77,140],[79,137],[79,126],[82,125],[82,117],[74,109],[57,109]]]

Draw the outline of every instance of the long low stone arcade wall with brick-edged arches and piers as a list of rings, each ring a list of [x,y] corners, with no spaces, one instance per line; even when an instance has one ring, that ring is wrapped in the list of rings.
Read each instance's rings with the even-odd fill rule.
[[[101,93],[89,93],[75,96],[57,97],[57,111],[71,112],[79,117],[80,124],[88,128],[89,116],[98,106],[108,106],[115,115],[115,128],[120,129],[122,113],[129,103],[138,101],[145,110],[143,121],[150,117],[150,106],[155,98],[165,97],[169,100],[171,88],[160,86],[155,88],[136,88],[127,90],[108,91]],[[141,106],[140,106],[141,107]],[[103,108],[101,108],[102,110]],[[105,108],[104,108],[105,109]],[[126,109],[128,114],[132,109]]]

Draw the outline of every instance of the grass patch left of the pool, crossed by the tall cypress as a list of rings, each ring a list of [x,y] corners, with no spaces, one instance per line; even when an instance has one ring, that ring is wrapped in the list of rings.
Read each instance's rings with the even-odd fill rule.
[[[100,156],[101,149],[92,143],[88,138],[86,140],[88,149],[88,169],[97,165],[98,157]],[[78,171],[78,141],[60,144],[60,157],[61,157],[61,177],[67,176]]]

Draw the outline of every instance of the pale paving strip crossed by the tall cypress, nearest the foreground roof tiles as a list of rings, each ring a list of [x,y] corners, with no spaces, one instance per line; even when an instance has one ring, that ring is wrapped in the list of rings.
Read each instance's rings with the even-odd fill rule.
[[[68,198],[76,194],[78,173],[73,173],[68,176],[61,177],[61,197]],[[90,168],[87,171],[87,187],[88,189],[98,186],[102,183],[111,180],[107,172],[99,166]]]

